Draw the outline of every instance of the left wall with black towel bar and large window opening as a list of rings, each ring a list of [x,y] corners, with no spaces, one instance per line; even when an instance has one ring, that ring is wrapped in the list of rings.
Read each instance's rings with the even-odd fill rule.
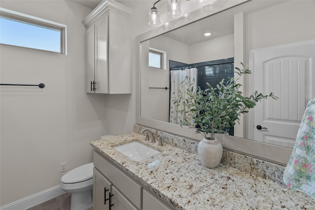
[[[1,0],[1,7],[67,25],[67,55],[0,46],[0,206],[60,184],[67,171],[92,161],[90,142],[106,134],[103,94],[86,94],[85,28],[92,10],[64,0]]]

